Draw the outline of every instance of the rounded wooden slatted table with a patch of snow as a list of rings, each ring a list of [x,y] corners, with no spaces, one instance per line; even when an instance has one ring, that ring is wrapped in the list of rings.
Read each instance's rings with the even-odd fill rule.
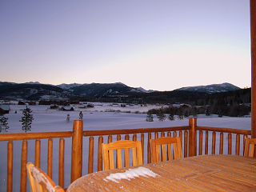
[[[136,170],[147,175],[136,177]],[[100,171],[78,178],[67,189],[68,192],[245,190],[256,191],[256,158],[237,155],[202,155]]]

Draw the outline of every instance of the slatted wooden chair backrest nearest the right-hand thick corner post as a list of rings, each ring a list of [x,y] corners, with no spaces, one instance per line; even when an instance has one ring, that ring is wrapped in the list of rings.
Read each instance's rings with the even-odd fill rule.
[[[162,138],[150,140],[152,162],[160,162],[160,161],[165,162],[173,159],[171,144],[173,144],[174,159],[182,158],[181,138],[162,137]],[[167,151],[166,151],[166,145],[167,145]],[[161,150],[159,149],[160,147],[161,147]]]

